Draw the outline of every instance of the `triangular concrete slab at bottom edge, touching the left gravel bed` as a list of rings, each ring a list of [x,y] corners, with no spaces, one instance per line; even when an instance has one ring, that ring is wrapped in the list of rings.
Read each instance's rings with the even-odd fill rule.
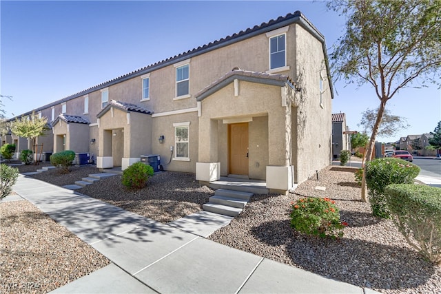
[[[50,293],[156,293],[114,264]]]

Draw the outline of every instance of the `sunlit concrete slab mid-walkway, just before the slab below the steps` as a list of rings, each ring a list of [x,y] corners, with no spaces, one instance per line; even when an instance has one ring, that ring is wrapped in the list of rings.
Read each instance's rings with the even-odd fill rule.
[[[196,238],[167,224],[152,222],[90,245],[134,275]]]

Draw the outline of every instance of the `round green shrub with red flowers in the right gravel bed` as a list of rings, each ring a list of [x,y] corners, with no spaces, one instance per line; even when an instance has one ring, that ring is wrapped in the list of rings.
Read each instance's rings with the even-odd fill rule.
[[[292,203],[291,227],[300,233],[321,238],[341,238],[347,222],[340,222],[340,211],[329,198],[301,198]]]

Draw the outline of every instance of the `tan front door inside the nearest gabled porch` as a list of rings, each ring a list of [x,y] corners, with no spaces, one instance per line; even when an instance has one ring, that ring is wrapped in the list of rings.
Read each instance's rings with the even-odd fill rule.
[[[248,123],[229,125],[229,174],[248,176]]]

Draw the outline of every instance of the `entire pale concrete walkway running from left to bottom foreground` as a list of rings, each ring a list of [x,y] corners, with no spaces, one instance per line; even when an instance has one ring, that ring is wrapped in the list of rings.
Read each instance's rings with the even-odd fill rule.
[[[25,176],[14,191],[112,261],[52,293],[376,293],[203,238],[228,217],[163,224]]]

